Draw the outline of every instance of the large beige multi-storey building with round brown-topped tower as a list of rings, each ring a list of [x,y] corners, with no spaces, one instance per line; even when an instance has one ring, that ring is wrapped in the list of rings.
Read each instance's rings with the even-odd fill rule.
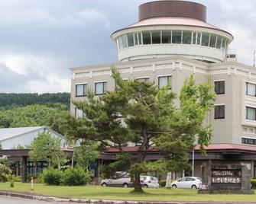
[[[216,93],[215,106],[206,117],[213,129],[212,145],[206,148],[207,157],[199,156],[196,148],[194,175],[200,176],[203,161],[215,160],[243,162],[251,177],[256,177],[256,69],[237,62],[235,53],[228,52],[232,33],[208,24],[204,5],[145,3],[139,6],[138,22],[116,30],[111,37],[119,62],[71,68],[71,101],[85,100],[88,88],[96,95],[115,90],[111,65],[126,80],[154,81],[159,88],[170,83],[176,93],[190,75],[197,83],[210,76]],[[73,104],[70,111],[84,116]],[[127,151],[135,153],[135,149]],[[115,159],[116,152],[109,151],[100,159]],[[157,151],[149,154],[152,160],[160,157]]]

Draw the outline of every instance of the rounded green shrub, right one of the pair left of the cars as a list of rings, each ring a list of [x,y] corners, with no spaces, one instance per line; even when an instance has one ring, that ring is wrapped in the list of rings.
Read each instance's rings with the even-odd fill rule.
[[[69,168],[64,171],[62,184],[66,186],[83,186],[91,180],[89,172],[82,167]]]

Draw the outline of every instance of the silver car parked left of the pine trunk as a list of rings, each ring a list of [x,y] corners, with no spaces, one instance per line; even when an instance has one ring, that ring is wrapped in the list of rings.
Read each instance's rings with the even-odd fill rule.
[[[115,172],[115,176],[108,179],[103,179],[101,186],[122,186],[127,188],[132,186],[131,176],[126,172]]]

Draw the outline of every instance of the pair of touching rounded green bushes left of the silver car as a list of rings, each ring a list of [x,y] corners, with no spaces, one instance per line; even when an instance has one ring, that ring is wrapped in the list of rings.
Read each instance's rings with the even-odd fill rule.
[[[48,168],[42,175],[44,183],[49,185],[83,186],[91,180],[89,172],[81,167],[68,168],[66,171]]]

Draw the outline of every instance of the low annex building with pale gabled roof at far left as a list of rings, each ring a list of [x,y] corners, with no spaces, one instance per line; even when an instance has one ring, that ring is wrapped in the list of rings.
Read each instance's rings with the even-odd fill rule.
[[[24,182],[26,182],[28,174],[41,173],[47,167],[47,161],[44,158],[41,161],[32,162],[28,156],[29,151],[31,151],[29,145],[41,132],[46,132],[53,138],[60,139],[66,157],[71,158],[73,156],[73,149],[66,148],[66,140],[63,135],[45,126],[0,129],[0,144],[2,145],[0,157],[8,158],[9,161],[13,162],[12,171],[16,176],[21,176]]]

